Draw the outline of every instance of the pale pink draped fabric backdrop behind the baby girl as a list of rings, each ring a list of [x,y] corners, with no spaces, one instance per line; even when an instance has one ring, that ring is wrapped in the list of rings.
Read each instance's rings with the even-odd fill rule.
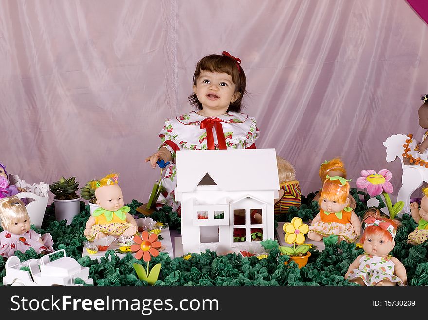
[[[341,156],[352,187],[385,168],[396,195],[401,166],[382,142],[424,133],[416,17],[405,0],[2,1],[0,161],[27,182],[81,187],[115,170],[125,202],[147,201],[159,171],[143,160],[163,120],[191,110],[196,62],[227,50],[247,75],[257,147],[294,164],[303,194]]]

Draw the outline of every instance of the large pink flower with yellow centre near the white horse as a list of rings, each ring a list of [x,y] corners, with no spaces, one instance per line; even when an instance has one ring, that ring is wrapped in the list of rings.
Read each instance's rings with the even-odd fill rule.
[[[367,193],[371,196],[377,196],[382,192],[392,193],[394,188],[390,182],[392,173],[387,169],[382,169],[376,173],[374,170],[362,170],[362,177],[357,179],[355,183],[360,189],[367,189]]]

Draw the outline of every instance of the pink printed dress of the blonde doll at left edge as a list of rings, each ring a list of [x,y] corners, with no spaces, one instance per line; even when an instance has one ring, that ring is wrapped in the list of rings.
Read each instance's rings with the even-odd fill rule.
[[[38,241],[40,238],[43,244]],[[13,256],[17,250],[25,253],[30,248],[33,248],[37,253],[53,252],[53,244],[54,241],[50,233],[40,235],[31,229],[23,234],[13,234],[8,231],[0,233],[0,255],[6,258]]]

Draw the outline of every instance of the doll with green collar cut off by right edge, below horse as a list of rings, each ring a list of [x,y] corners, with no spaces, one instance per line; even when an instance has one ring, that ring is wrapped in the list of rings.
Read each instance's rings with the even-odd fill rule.
[[[417,202],[410,204],[411,216],[418,223],[416,229],[409,233],[407,243],[418,245],[428,239],[428,188],[422,188],[424,196],[421,200],[421,208]]]

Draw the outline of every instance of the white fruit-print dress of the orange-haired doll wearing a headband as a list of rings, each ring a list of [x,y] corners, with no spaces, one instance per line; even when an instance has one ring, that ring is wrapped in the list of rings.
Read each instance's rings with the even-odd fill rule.
[[[403,285],[403,281],[394,275],[395,264],[392,256],[372,256],[365,253],[359,260],[358,269],[349,272],[347,280],[361,278],[366,285],[376,285],[379,281],[389,280]]]

